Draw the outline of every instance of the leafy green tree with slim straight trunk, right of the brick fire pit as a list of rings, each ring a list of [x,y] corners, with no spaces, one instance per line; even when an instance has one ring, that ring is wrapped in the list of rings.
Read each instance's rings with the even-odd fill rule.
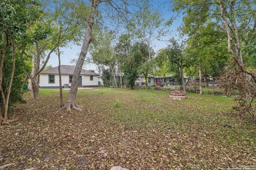
[[[191,76],[199,75],[200,94],[203,94],[202,74],[220,78],[226,71],[228,53],[223,46],[226,45],[225,32],[214,22],[199,26],[197,32],[188,39],[185,53],[190,56],[191,66],[187,73]]]

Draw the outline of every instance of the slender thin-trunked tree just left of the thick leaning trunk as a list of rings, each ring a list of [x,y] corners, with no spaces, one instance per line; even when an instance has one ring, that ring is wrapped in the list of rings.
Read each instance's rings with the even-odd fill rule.
[[[84,15],[81,16],[81,11]],[[59,71],[59,87],[60,87],[60,107],[64,107],[62,82],[61,82],[61,64],[60,55],[61,47],[68,46],[69,43],[79,44],[82,39],[82,29],[85,25],[81,22],[82,19],[87,18],[87,6],[80,1],[70,3],[66,0],[54,1],[53,20],[57,27],[55,27],[58,34],[56,39],[57,55],[58,55],[58,71]]]

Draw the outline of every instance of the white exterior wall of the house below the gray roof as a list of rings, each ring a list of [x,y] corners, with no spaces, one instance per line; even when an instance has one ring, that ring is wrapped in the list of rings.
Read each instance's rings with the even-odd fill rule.
[[[50,87],[50,86],[59,86],[59,74],[55,74],[55,82],[49,83],[48,74],[40,74],[39,76],[39,86]],[[93,76],[93,81],[90,81],[90,75],[82,75],[82,86],[98,86],[99,77],[98,75]],[[64,84],[69,84],[69,75],[61,75],[62,86]]]

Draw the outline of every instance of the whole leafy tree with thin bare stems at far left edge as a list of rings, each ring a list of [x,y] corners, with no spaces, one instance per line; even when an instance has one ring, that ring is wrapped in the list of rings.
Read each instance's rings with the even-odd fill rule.
[[[0,3],[0,124],[12,122],[8,120],[8,109],[21,100],[22,75],[26,72],[23,55],[29,44],[26,31],[38,17],[37,5],[37,2],[26,0]]]

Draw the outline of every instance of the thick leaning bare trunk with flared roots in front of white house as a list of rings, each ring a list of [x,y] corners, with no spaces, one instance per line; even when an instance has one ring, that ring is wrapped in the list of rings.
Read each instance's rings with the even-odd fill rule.
[[[68,100],[67,100],[67,104],[66,104],[66,108],[68,111],[70,111],[71,108],[74,109],[79,109],[78,105],[76,104],[76,94],[77,94],[77,87],[78,87],[78,80],[79,80],[79,75],[81,73],[83,64],[84,64],[84,60],[85,60],[85,56],[87,54],[87,50],[88,47],[92,41],[92,27],[94,24],[94,14],[95,14],[95,9],[98,6],[98,1],[91,1],[91,8],[90,8],[90,17],[89,17],[89,21],[87,23],[87,27],[86,27],[86,31],[85,31],[85,36],[84,36],[84,42],[83,42],[83,46],[81,49],[81,52],[79,54],[77,63],[76,63],[76,67],[74,70],[74,74],[73,74],[73,79],[72,79],[72,83],[71,83],[71,88],[69,91],[69,95],[68,95]],[[79,109],[81,110],[81,109]]]

